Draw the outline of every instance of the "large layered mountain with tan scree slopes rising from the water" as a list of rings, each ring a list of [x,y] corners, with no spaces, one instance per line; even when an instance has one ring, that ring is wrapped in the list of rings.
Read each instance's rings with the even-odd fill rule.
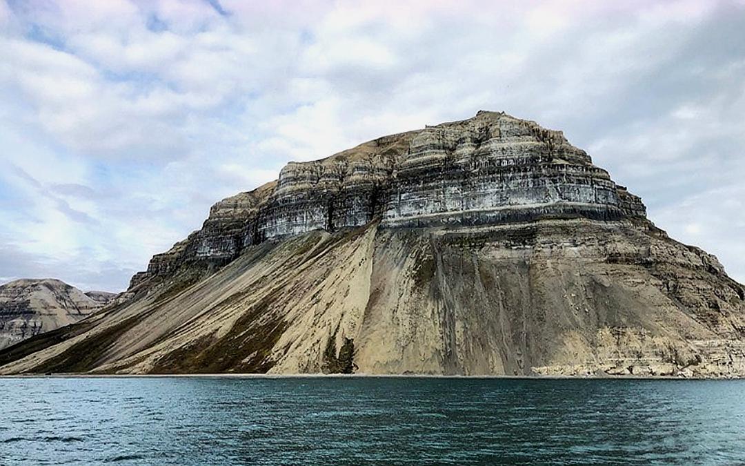
[[[0,373],[745,374],[745,288],[505,113],[290,163],[121,299]]]

